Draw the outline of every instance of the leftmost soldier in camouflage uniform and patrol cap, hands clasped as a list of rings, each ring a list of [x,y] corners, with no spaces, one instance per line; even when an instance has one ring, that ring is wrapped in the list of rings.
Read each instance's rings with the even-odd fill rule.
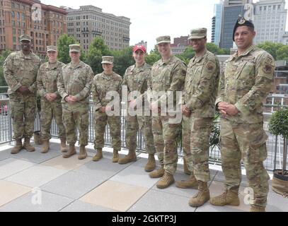
[[[30,138],[34,131],[36,77],[41,59],[30,50],[30,36],[21,35],[20,42],[22,50],[11,53],[4,62],[4,77],[8,84],[13,119],[13,138],[16,139],[16,147],[11,150],[11,154],[19,153],[22,148],[35,150],[30,145]]]

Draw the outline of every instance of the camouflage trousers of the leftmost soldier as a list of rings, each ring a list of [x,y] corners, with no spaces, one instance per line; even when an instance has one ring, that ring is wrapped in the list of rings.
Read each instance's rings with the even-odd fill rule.
[[[9,95],[9,99],[13,119],[13,138],[31,138],[34,132],[36,96],[13,93]]]

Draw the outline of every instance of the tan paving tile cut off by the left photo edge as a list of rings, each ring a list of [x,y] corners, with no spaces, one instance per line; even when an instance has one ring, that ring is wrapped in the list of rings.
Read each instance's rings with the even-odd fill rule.
[[[30,191],[31,188],[28,186],[0,180],[0,206],[3,206],[4,204],[13,201],[15,198],[23,196]]]

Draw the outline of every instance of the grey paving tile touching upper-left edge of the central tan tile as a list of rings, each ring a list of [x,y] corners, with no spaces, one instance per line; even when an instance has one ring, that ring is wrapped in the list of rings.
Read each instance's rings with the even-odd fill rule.
[[[77,199],[104,181],[103,177],[70,171],[41,186],[40,189]]]

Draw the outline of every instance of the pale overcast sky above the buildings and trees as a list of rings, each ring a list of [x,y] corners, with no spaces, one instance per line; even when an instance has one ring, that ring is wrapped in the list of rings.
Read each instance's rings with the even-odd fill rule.
[[[207,39],[211,42],[211,24],[214,4],[219,0],[41,0],[42,4],[53,6],[93,5],[102,8],[104,13],[130,18],[130,45],[144,40],[150,51],[156,44],[156,37],[189,35],[192,28],[207,28]],[[253,0],[253,2],[255,2]],[[288,6],[286,0],[286,6]],[[287,29],[288,30],[288,21]]]

